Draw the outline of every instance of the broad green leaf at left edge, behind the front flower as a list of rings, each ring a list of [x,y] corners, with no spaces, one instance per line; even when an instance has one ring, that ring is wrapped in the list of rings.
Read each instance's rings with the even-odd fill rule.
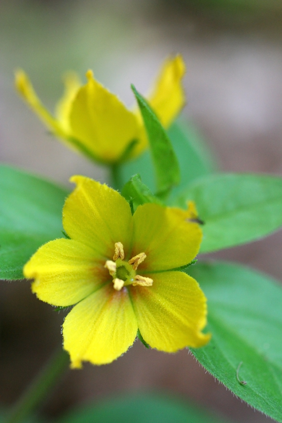
[[[68,191],[9,166],[0,166],[0,279],[22,279],[40,245],[62,238]]]

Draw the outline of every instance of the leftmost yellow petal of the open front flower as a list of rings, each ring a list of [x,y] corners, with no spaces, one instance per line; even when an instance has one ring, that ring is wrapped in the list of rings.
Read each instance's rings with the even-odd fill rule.
[[[71,239],[55,239],[40,247],[23,268],[35,279],[32,292],[54,306],[70,306],[111,279],[95,252]]]

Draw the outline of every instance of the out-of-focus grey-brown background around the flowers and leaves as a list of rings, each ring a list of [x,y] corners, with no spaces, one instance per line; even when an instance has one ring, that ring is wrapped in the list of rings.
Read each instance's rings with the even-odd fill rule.
[[[212,4],[212,1],[210,2]],[[228,3],[228,1],[226,1]],[[262,2],[263,3],[263,2]],[[260,2],[257,2],[260,4]],[[224,171],[282,173],[280,2],[267,10],[206,7],[189,1],[20,1],[0,5],[0,159],[68,184],[81,173],[107,180],[51,138],[13,90],[24,68],[45,104],[61,95],[61,75],[96,78],[130,105],[134,83],[146,93],[169,54],[187,63],[184,115],[199,128]],[[216,255],[281,278],[278,232]],[[14,402],[56,345],[64,314],[36,300],[28,282],[0,284],[0,402]],[[135,389],[167,390],[233,422],[270,422],[219,385],[188,350],[163,354],[135,342],[114,363],[70,371],[45,404],[59,416],[85,401]]]

